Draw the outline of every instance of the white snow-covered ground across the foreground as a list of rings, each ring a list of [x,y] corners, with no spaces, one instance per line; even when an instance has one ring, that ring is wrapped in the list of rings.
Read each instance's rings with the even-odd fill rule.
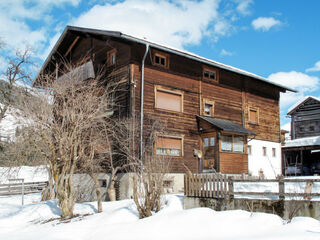
[[[183,210],[183,196],[166,196],[164,208],[140,220],[132,200],[76,204],[79,216],[61,222],[56,201],[39,201],[27,195],[0,197],[0,239],[93,240],[93,239],[320,239],[320,222],[297,217],[286,223],[279,216],[241,210],[217,212],[209,208]]]

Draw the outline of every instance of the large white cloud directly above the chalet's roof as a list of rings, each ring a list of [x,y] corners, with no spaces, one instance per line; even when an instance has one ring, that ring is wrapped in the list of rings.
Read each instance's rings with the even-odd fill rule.
[[[218,7],[219,0],[126,0],[95,5],[71,24],[117,30],[183,48],[199,44],[203,36],[217,40],[227,34],[228,21],[219,15]]]

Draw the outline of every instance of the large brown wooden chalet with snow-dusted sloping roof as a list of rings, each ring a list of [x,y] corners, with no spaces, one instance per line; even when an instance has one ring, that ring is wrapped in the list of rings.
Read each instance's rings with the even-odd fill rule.
[[[172,157],[174,173],[185,172],[184,165],[193,172],[281,173],[279,94],[294,90],[121,32],[73,26],[39,74],[57,71],[62,59],[86,56],[83,79],[101,66],[121,76],[127,93],[120,112],[140,116],[141,132],[147,114],[166,120],[167,134],[158,137],[155,151]]]

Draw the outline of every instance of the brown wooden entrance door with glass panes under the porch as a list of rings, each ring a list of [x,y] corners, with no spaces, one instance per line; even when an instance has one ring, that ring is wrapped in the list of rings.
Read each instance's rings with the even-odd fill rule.
[[[215,160],[217,156],[216,133],[206,134],[202,136],[202,170],[215,168]]]

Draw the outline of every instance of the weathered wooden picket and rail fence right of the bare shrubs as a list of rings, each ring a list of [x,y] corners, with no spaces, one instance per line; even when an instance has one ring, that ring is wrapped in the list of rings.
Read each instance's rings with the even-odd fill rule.
[[[284,199],[285,197],[320,197],[320,192],[312,193],[312,186],[320,179],[233,179],[225,174],[186,174],[184,176],[184,195],[189,197],[202,198],[245,198],[247,196],[255,197],[276,197]],[[235,183],[277,183],[277,192],[268,191],[235,191]],[[286,183],[303,183],[311,186],[305,187],[304,192],[285,192]]]

